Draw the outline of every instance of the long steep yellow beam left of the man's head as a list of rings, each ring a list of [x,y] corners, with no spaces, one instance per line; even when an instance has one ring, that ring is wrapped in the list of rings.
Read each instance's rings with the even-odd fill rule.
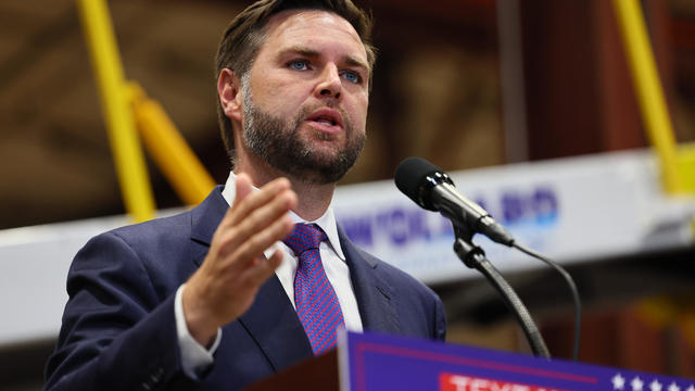
[[[137,222],[154,215],[144,157],[127,100],[123,65],[104,0],[77,0],[126,211]]]

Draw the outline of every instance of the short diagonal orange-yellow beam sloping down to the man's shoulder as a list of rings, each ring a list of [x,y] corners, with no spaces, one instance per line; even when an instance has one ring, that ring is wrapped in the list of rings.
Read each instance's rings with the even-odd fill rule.
[[[215,181],[188,147],[160,103],[148,98],[136,83],[128,85],[138,130],[150,156],[179,198],[189,205],[205,199]]]

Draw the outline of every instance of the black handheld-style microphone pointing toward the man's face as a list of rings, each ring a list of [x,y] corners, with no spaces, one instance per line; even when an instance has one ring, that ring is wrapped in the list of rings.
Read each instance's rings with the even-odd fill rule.
[[[395,186],[428,211],[440,212],[454,226],[470,235],[480,232],[511,247],[514,238],[484,209],[458,192],[454,181],[438,166],[421,157],[408,157],[395,171]]]

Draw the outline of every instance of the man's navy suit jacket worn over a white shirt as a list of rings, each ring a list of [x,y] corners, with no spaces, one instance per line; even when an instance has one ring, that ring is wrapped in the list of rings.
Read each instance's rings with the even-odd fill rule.
[[[227,209],[217,187],[189,212],[102,234],[77,253],[47,390],[236,390],[313,356],[273,276],[223,328],[212,368],[199,380],[184,375],[175,292],[207,254]],[[430,289],[356,248],[340,227],[339,236],[365,330],[444,339],[442,303]]]

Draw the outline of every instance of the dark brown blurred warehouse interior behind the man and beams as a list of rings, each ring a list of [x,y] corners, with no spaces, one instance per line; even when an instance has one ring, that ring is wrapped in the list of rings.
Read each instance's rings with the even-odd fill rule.
[[[374,11],[379,58],[367,146],[343,185],[390,179],[410,155],[466,171],[648,147],[610,1],[355,2]],[[217,182],[229,165],[213,56],[227,23],[249,3],[109,2],[126,76],[164,106]],[[641,4],[674,136],[695,142],[695,1]],[[125,213],[73,1],[0,2],[0,229]],[[157,207],[182,206],[149,164]],[[4,278],[24,261],[0,257]],[[695,377],[692,241],[591,261],[568,263],[585,305],[580,360]],[[572,306],[560,280],[540,268],[508,277],[551,352],[568,358]],[[451,341],[528,351],[484,281],[433,288],[446,305]],[[0,344],[0,388],[40,389],[54,338]]]

